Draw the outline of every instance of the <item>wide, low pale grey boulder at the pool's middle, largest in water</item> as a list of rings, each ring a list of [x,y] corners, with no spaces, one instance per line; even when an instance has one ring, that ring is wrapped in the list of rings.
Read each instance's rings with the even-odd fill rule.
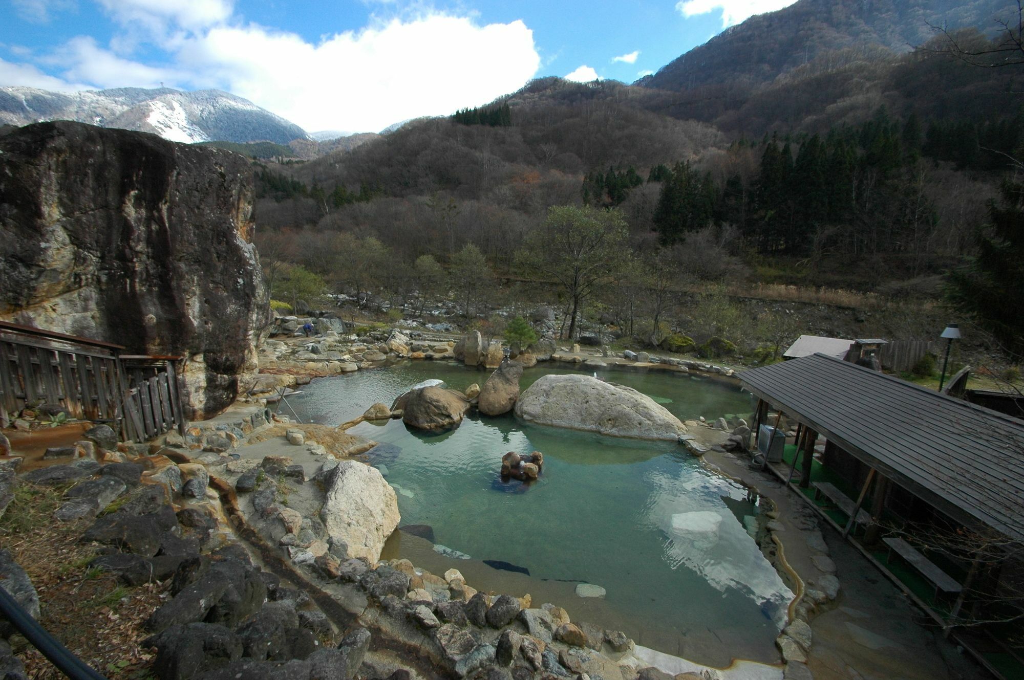
[[[544,376],[515,405],[530,423],[620,437],[675,440],[686,426],[635,389],[584,375]]]

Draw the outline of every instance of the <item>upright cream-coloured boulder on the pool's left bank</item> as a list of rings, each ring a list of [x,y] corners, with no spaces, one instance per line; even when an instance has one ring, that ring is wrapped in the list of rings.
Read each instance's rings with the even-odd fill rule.
[[[321,519],[332,543],[344,542],[349,557],[379,560],[401,519],[394,490],[376,468],[356,461],[339,462],[325,486]]]

